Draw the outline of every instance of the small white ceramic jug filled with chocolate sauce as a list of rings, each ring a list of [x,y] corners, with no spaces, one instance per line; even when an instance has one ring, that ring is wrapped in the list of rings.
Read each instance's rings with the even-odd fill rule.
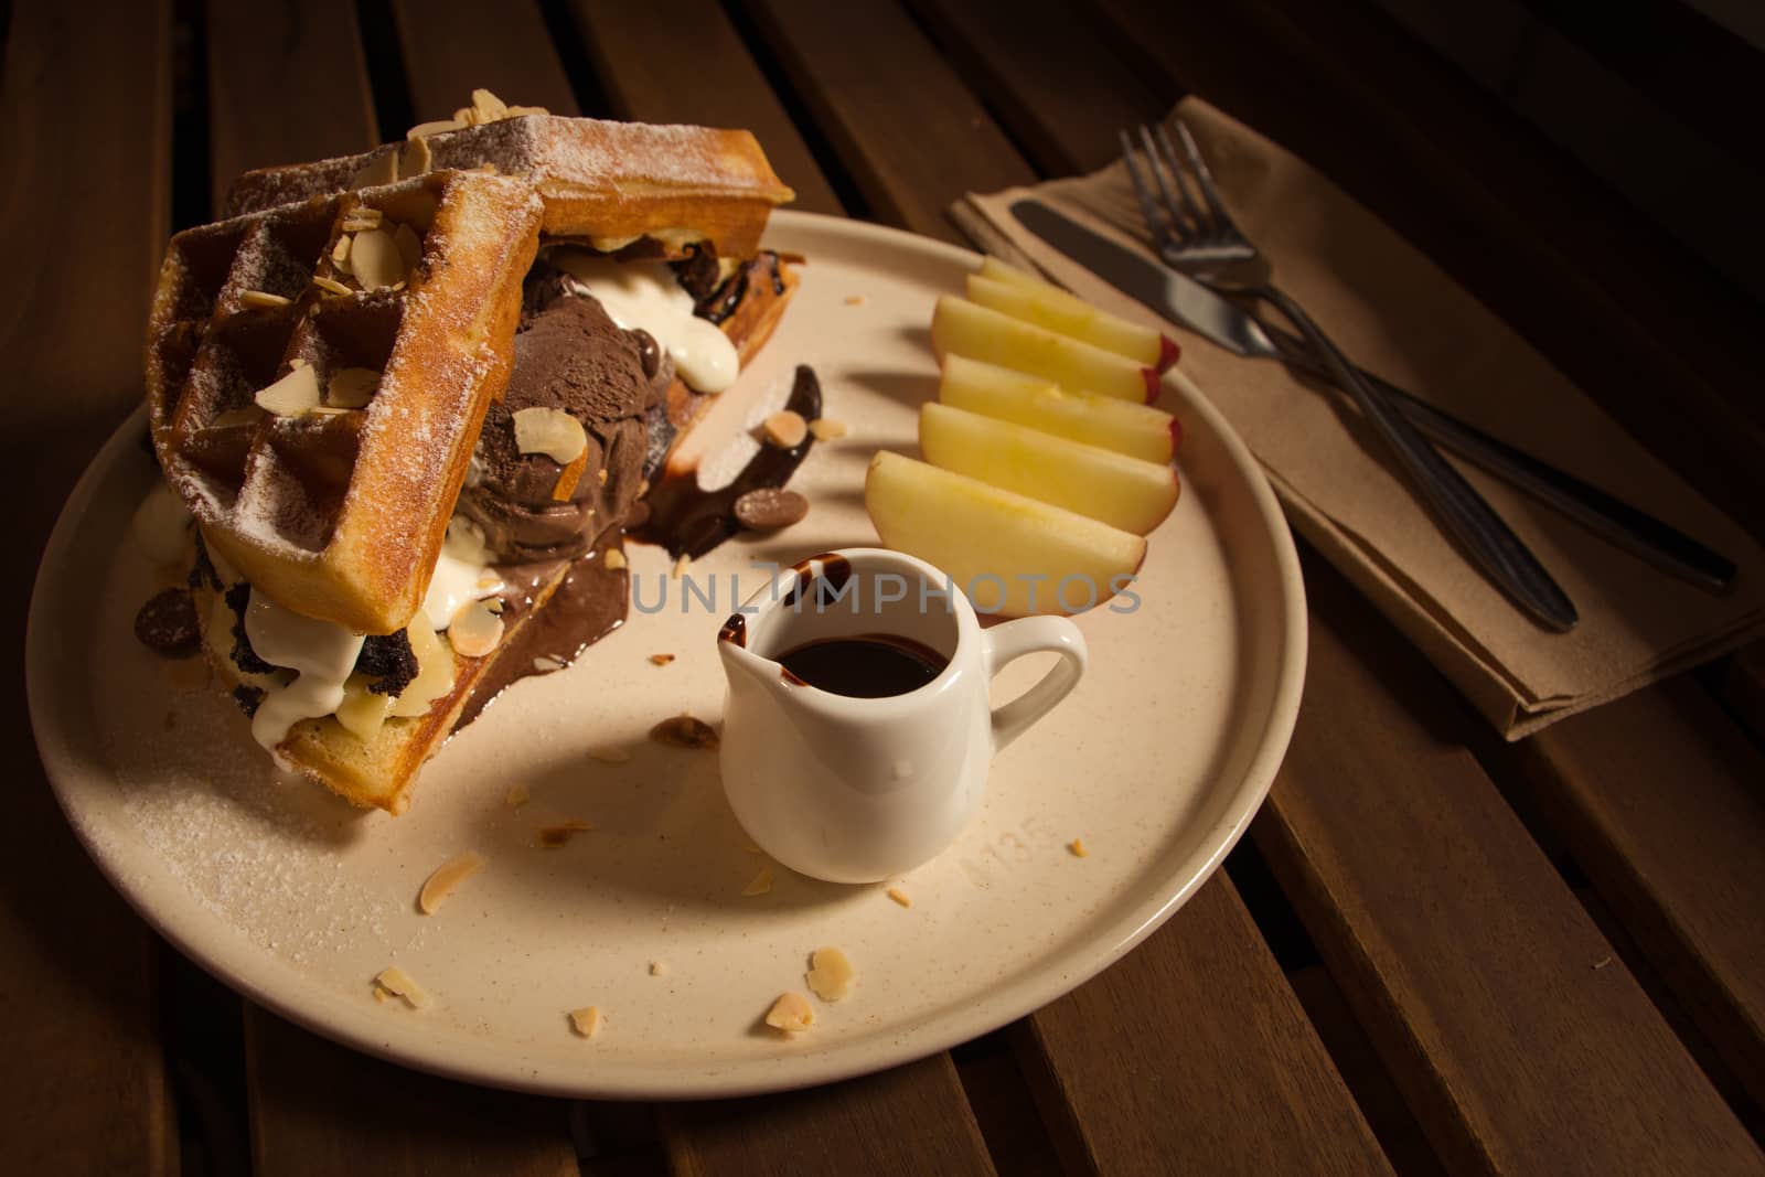
[[[992,676],[1036,651],[1061,660],[992,708]],[[833,882],[875,882],[950,845],[994,752],[1085,671],[1066,618],[981,628],[943,572],[884,549],[796,565],[729,618],[718,653],[729,805],[762,851]]]

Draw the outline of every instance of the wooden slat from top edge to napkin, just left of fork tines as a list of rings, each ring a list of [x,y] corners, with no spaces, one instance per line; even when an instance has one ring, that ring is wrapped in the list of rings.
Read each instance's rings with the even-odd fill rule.
[[[944,53],[1048,176],[1115,159],[1115,131],[1170,104],[1123,67],[1068,5],[1020,0],[911,0]]]

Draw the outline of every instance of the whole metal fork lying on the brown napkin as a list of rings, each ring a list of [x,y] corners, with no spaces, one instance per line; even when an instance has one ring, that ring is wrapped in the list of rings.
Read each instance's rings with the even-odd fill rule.
[[[1172,270],[1223,295],[1260,298],[1290,319],[1311,349],[1322,356],[1336,386],[1354,397],[1361,413],[1396,452],[1437,517],[1458,536],[1460,545],[1483,568],[1484,575],[1537,625],[1558,633],[1573,630],[1578,621],[1574,603],[1520,542],[1520,536],[1428,445],[1384,392],[1361,379],[1356,365],[1336,349],[1336,344],[1324,335],[1311,316],[1274,284],[1269,259],[1239,231],[1225,201],[1220,199],[1213,171],[1195,146],[1190,129],[1181,120],[1175,125],[1177,138],[1183,139],[1183,159],[1188,161],[1195,187],[1200,189],[1200,201],[1190,191],[1190,182],[1184,178],[1184,169],[1163,125],[1156,129],[1138,127],[1140,148],[1145,152],[1144,173],[1133,139],[1126,131],[1121,132],[1123,159],[1128,164],[1135,194],[1140,198],[1140,212],[1153,233],[1158,256]],[[1147,182],[1145,173],[1151,173],[1151,182]],[[1165,178],[1167,173],[1170,182]]]

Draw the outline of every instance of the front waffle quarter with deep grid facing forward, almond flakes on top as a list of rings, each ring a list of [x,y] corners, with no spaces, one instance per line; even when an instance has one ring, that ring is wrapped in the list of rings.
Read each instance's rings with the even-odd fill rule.
[[[214,552],[297,612],[358,633],[404,626],[508,381],[540,214],[522,180],[434,171],[171,238],[148,321],[148,411],[161,466]],[[365,245],[351,261],[341,238],[362,240],[376,219],[404,279],[364,291],[355,272],[385,266]],[[258,394],[297,367],[323,402],[265,411]]]

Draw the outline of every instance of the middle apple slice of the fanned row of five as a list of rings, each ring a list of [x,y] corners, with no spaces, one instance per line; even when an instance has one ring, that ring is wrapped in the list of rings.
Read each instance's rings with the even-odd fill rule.
[[[1177,418],[1151,404],[1066,392],[1038,376],[960,355],[944,356],[937,399],[957,409],[1100,445],[1147,462],[1168,462],[1183,438]]]

